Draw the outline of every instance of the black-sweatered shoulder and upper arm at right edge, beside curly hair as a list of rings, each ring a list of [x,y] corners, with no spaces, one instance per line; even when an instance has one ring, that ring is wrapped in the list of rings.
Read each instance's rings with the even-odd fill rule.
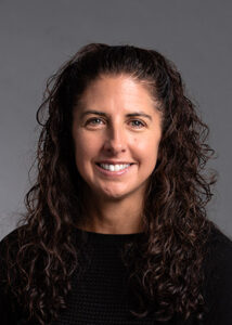
[[[205,298],[209,324],[231,324],[232,239],[218,226],[211,230],[205,259]]]

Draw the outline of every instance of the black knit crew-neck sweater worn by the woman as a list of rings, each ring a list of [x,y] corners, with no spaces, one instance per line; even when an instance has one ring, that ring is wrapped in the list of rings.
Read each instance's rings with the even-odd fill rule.
[[[155,322],[153,312],[142,320],[129,312],[133,297],[128,291],[128,273],[121,260],[121,249],[128,242],[143,238],[143,234],[100,234],[75,230],[77,245],[82,245],[80,264],[82,271],[73,275],[73,289],[53,325],[232,325],[232,242],[222,232],[214,230],[205,272],[205,299],[210,308],[207,321],[196,321],[192,315],[186,322],[175,316],[169,322]],[[12,238],[16,231],[5,238]],[[3,251],[5,238],[0,244]],[[4,261],[2,260],[1,263]],[[0,274],[2,276],[2,274]],[[0,277],[1,278],[1,277]],[[9,297],[0,291],[0,324],[22,323],[21,309],[11,310]],[[36,324],[36,323],[30,323]]]

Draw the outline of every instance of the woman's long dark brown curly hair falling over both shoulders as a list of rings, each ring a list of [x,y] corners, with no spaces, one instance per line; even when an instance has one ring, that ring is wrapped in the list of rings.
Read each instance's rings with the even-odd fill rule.
[[[129,44],[87,44],[47,82],[37,112],[42,127],[33,164],[37,162],[37,178],[25,195],[17,243],[8,249],[11,292],[38,324],[50,324],[67,307],[65,297],[78,265],[74,229],[85,220],[72,114],[90,82],[102,75],[126,75],[142,82],[158,101],[163,119],[157,164],[145,194],[145,240],[134,258],[131,247],[125,250],[130,289],[139,302],[131,313],[143,317],[155,306],[158,321],[175,313],[186,320],[193,312],[201,320],[207,311],[203,263],[216,226],[206,212],[217,182],[214,169],[204,173],[215,154],[206,143],[209,128],[186,96],[175,64],[157,51]]]

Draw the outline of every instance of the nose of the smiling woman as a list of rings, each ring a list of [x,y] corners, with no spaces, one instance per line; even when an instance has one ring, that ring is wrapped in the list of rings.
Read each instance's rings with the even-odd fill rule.
[[[104,150],[108,153],[113,153],[114,155],[126,152],[126,136],[123,128],[112,127],[108,128],[104,142]]]

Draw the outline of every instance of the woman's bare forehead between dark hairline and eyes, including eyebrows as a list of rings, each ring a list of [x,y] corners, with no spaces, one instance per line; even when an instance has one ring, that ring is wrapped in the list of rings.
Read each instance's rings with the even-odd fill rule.
[[[108,118],[145,117],[150,123],[163,123],[162,105],[151,95],[145,81],[130,76],[101,76],[90,82],[73,109],[73,121],[89,114]]]

